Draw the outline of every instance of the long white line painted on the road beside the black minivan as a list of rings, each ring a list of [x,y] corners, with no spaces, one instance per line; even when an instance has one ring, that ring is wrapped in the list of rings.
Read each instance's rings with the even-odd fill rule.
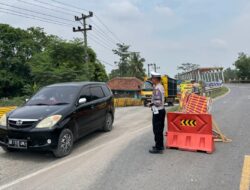
[[[72,160],[75,160],[75,159],[77,159],[77,158],[80,158],[80,157],[82,157],[82,156],[85,156],[85,155],[87,155],[87,154],[89,154],[89,153],[91,153],[91,152],[94,152],[94,151],[96,151],[96,150],[98,150],[98,149],[101,149],[101,148],[103,148],[103,147],[105,147],[105,146],[114,144],[114,143],[117,142],[117,141],[120,141],[120,140],[122,140],[122,139],[124,139],[124,138],[127,138],[127,136],[129,136],[129,135],[136,135],[136,134],[143,133],[145,129],[150,129],[150,126],[151,126],[151,125],[147,125],[147,126],[145,126],[145,127],[136,129],[136,130],[131,131],[131,132],[127,133],[127,134],[124,134],[124,135],[122,135],[122,136],[120,136],[120,137],[118,137],[118,138],[116,138],[116,139],[114,139],[114,140],[111,140],[111,141],[109,141],[109,142],[107,142],[107,143],[105,143],[105,144],[99,145],[99,146],[97,146],[97,147],[95,147],[95,148],[92,148],[92,149],[87,150],[87,151],[85,151],[85,152],[83,152],[83,153],[81,153],[81,154],[78,154],[78,155],[76,155],[76,156],[74,156],[74,157],[70,157],[70,158],[65,159],[65,160],[63,160],[63,161],[61,161],[61,162],[58,162],[58,163],[56,163],[56,164],[54,164],[54,165],[52,165],[52,166],[45,167],[45,168],[43,168],[43,169],[41,169],[41,170],[38,170],[38,171],[36,171],[36,172],[33,172],[33,173],[31,173],[31,174],[29,174],[29,175],[26,175],[26,176],[24,176],[24,177],[21,177],[21,178],[19,178],[19,179],[17,179],[17,180],[14,180],[14,181],[12,181],[12,182],[9,182],[9,183],[7,183],[7,184],[4,184],[4,185],[0,186],[0,190],[7,189],[7,188],[9,188],[9,187],[11,187],[11,186],[13,186],[13,185],[16,185],[16,184],[18,184],[18,183],[20,183],[20,182],[23,182],[23,181],[25,181],[25,180],[27,180],[27,179],[30,179],[30,178],[34,177],[34,176],[37,176],[37,175],[42,174],[42,173],[44,173],[44,172],[47,172],[48,170],[51,170],[51,169],[56,168],[56,167],[58,167],[58,166],[61,166],[61,165],[65,164],[65,163],[67,163],[67,162],[70,162],[70,161],[72,161]]]

